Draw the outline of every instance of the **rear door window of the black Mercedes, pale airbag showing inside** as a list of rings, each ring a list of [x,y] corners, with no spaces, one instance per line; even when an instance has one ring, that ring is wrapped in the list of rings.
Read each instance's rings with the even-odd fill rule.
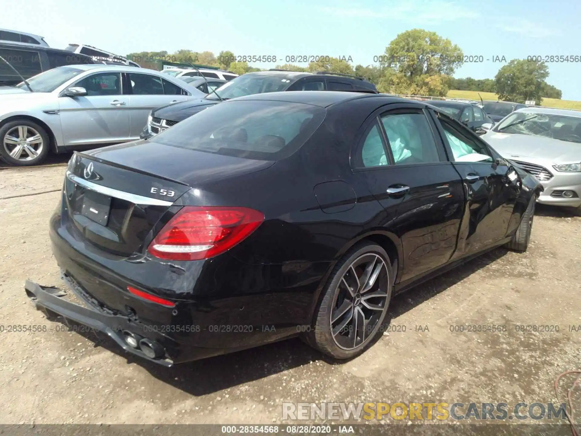
[[[424,113],[392,113],[381,122],[396,165],[440,162],[432,129]]]

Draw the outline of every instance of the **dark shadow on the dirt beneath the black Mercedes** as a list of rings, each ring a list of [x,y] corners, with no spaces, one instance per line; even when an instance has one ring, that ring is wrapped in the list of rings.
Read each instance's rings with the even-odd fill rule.
[[[411,290],[394,296],[390,304],[387,321],[403,315],[433,296],[447,290],[464,278],[500,259],[507,253],[504,248],[487,252],[479,258],[433,278]],[[286,370],[304,366],[321,360],[328,364],[344,364],[348,360],[334,360],[304,344],[298,338],[286,339],[259,346],[257,348],[178,364],[167,368],[124,352],[112,339],[99,333],[80,333],[110,352],[123,356],[127,364],[135,363],[147,370],[153,377],[190,395],[200,396],[260,380]],[[381,339],[378,335],[375,341]]]

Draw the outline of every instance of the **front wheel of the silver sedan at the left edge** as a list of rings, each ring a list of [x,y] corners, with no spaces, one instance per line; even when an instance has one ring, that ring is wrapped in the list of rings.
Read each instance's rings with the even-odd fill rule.
[[[33,121],[16,119],[0,127],[0,157],[9,165],[38,165],[48,156],[49,146],[48,133]]]

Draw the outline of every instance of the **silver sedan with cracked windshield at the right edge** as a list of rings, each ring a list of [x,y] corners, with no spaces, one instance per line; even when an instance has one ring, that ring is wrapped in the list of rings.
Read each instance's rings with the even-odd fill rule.
[[[544,187],[539,203],[581,213],[581,112],[519,109],[482,138],[539,179]]]

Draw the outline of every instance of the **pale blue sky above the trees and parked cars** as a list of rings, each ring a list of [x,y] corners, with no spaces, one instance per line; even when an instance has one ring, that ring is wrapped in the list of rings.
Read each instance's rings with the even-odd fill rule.
[[[0,27],[40,34],[52,47],[70,42],[130,52],[187,48],[236,55],[351,56],[370,65],[398,33],[436,31],[483,63],[455,77],[493,78],[507,60],[531,55],[581,56],[581,2],[540,0],[27,0],[2,6]],[[490,59],[490,60],[486,60]],[[251,64],[274,67],[272,64]],[[550,63],[547,82],[563,99],[581,100],[581,62]]]

